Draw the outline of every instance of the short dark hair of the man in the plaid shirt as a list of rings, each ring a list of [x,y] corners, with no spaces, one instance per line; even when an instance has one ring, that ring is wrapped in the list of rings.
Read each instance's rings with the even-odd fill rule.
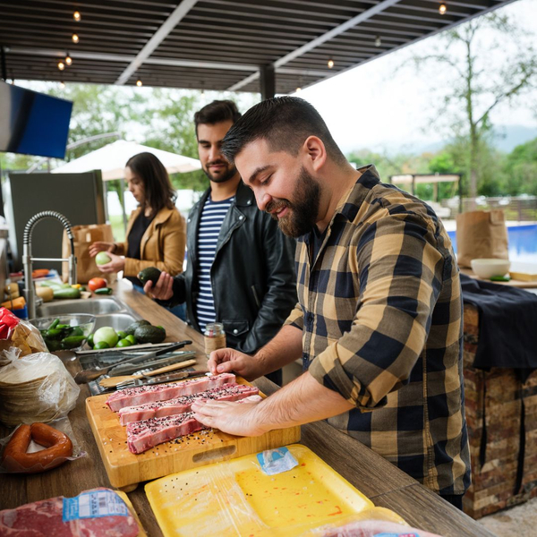
[[[322,140],[332,160],[338,164],[346,162],[327,124],[309,102],[297,97],[268,98],[251,107],[229,129],[222,142],[222,154],[234,163],[247,144],[264,139],[272,151],[295,156],[309,136]]]

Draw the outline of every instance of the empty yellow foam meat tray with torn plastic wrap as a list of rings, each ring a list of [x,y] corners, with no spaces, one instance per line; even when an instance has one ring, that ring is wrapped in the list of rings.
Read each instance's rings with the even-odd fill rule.
[[[292,537],[361,513],[405,524],[393,511],[374,507],[308,447],[287,448],[298,465],[277,475],[263,473],[249,455],[148,483],[160,529],[166,537]]]

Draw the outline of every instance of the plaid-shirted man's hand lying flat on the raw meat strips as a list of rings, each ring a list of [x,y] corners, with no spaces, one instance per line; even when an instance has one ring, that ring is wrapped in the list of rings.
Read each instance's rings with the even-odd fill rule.
[[[214,427],[237,436],[260,436],[267,432],[267,423],[257,417],[258,402],[197,401],[192,405],[194,418],[207,427]]]

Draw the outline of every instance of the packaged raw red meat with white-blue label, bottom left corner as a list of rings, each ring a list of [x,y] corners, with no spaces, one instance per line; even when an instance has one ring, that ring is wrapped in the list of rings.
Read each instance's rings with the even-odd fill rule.
[[[99,490],[115,495],[113,490],[108,489],[86,492]],[[0,537],[136,537],[140,528],[128,507],[125,504],[124,507],[128,513],[126,516],[98,516],[64,522],[64,497],[43,499],[0,511]]]

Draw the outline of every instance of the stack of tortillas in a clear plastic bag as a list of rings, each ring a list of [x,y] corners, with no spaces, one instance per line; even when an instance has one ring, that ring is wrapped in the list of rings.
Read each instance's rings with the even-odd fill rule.
[[[51,422],[71,412],[81,388],[64,363],[54,354],[20,353],[12,347],[0,354],[5,364],[0,367],[0,422],[8,427]]]

